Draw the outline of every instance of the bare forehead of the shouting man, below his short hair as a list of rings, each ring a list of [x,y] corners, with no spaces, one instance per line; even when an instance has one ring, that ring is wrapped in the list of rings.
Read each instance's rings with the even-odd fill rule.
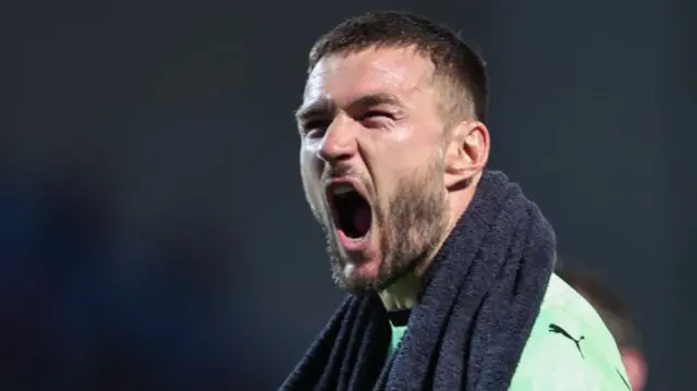
[[[433,65],[412,48],[371,48],[321,59],[310,72],[304,100],[341,102],[370,94],[406,98],[430,91]]]

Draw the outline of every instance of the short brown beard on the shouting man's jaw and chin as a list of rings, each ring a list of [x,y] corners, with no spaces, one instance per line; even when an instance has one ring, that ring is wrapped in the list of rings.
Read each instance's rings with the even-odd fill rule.
[[[332,279],[339,288],[354,294],[381,291],[425,266],[448,229],[447,193],[439,168],[433,159],[426,172],[401,179],[387,203],[375,203],[374,229],[380,237],[377,254],[382,257],[376,272],[346,272],[355,266],[341,252],[331,224],[322,224]]]

